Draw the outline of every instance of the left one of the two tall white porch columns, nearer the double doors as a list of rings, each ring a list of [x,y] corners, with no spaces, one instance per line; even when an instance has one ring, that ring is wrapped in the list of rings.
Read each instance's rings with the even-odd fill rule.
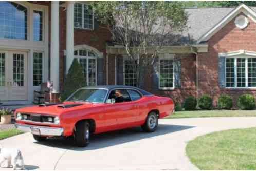
[[[50,51],[52,93],[60,91],[59,67],[59,1],[51,1],[51,51]]]

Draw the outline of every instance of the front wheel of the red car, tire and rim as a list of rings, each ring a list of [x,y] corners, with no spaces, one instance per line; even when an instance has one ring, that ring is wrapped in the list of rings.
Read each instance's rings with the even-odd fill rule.
[[[90,124],[87,121],[78,122],[75,132],[76,144],[79,147],[86,147],[90,140]]]

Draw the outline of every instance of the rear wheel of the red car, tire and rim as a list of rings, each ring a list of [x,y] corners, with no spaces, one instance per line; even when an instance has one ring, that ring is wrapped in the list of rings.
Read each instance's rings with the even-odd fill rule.
[[[154,111],[150,112],[141,128],[145,132],[154,132],[158,126],[158,117]]]

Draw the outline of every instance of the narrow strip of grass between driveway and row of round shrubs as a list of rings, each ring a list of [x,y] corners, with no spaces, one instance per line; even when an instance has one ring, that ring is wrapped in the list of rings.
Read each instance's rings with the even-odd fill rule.
[[[193,110],[193,111],[176,111],[169,118],[198,118],[198,117],[242,117],[255,116],[256,110]]]

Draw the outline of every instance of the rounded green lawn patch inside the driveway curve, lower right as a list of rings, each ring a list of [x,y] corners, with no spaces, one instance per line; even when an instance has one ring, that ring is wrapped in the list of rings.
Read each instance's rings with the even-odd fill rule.
[[[187,156],[202,170],[256,170],[256,128],[232,129],[197,137]]]

